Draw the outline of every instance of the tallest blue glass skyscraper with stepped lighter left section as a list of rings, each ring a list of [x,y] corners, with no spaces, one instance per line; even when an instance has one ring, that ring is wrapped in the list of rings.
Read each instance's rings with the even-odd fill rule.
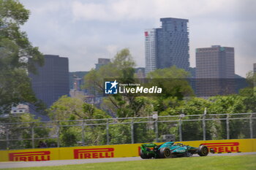
[[[146,73],[177,66],[189,69],[189,20],[161,18],[162,28],[145,31]]]

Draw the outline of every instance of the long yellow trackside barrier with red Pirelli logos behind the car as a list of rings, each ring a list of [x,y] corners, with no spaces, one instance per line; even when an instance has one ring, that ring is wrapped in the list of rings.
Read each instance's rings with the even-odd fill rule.
[[[181,142],[192,147],[205,144],[217,153],[256,152],[256,139],[230,139]],[[159,143],[161,144],[161,143]],[[139,156],[141,144],[116,144],[91,147],[59,147],[31,150],[0,150],[0,161],[50,161]]]

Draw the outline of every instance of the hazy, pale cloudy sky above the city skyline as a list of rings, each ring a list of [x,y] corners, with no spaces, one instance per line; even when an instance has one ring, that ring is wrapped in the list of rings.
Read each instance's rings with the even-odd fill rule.
[[[236,74],[256,63],[255,0],[20,0],[31,11],[22,27],[44,54],[69,58],[69,72],[89,71],[97,58],[128,47],[145,66],[144,30],[159,18],[189,19],[190,66],[195,48],[235,47]]]

